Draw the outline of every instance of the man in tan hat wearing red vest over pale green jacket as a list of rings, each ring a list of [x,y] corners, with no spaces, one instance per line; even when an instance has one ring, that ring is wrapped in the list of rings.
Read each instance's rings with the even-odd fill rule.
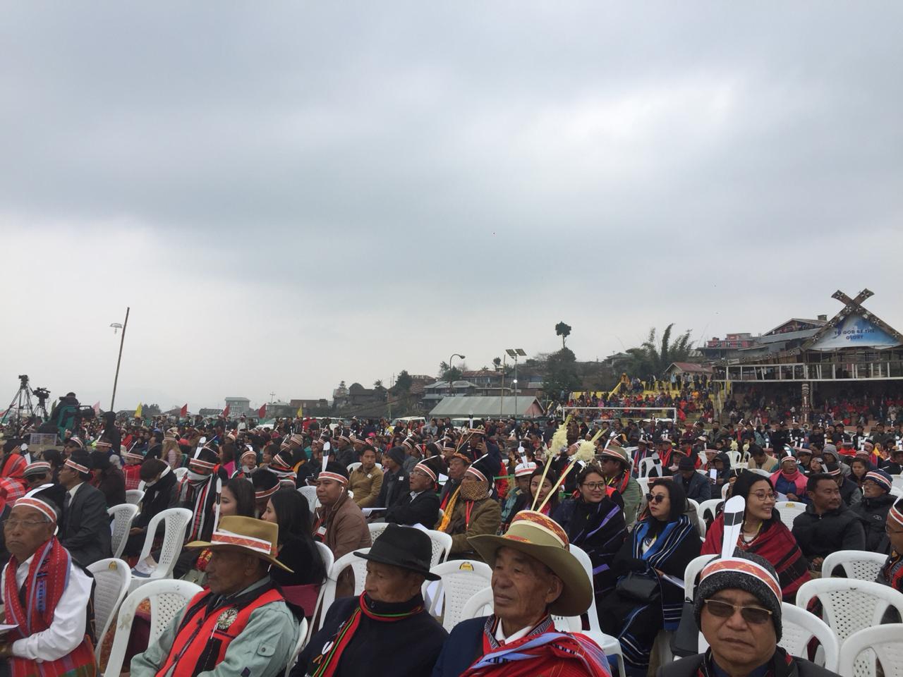
[[[156,674],[222,674],[275,677],[284,672],[298,641],[298,607],[289,607],[269,575],[279,526],[251,517],[226,516],[208,541],[209,589],[177,614],[144,654],[132,659],[133,677]]]

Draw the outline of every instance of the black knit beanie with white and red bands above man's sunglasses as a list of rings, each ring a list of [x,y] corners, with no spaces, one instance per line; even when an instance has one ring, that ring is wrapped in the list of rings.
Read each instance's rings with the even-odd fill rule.
[[[717,557],[703,568],[694,598],[696,626],[702,627],[703,602],[716,592],[740,589],[754,595],[771,612],[777,641],[781,640],[781,586],[777,572],[768,560],[751,552],[734,551],[733,557]]]

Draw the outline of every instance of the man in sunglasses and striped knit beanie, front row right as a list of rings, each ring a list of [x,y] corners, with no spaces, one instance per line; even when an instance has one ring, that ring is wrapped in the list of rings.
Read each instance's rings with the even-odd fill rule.
[[[834,675],[777,646],[781,587],[774,567],[759,555],[737,550],[731,558],[706,565],[696,588],[694,615],[709,650],[666,663],[658,677]]]

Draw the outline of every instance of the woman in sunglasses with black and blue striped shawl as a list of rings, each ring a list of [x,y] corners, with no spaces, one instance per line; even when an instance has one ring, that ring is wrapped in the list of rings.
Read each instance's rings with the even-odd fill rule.
[[[630,677],[645,677],[662,629],[675,630],[684,604],[684,570],[699,556],[699,534],[686,512],[684,487],[656,479],[648,509],[615,556],[618,581],[600,603],[602,632],[618,637]],[[680,580],[677,585],[669,577]]]

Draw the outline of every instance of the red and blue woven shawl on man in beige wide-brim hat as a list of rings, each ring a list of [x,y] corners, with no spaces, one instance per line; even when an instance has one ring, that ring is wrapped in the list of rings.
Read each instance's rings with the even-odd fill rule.
[[[609,677],[609,663],[599,646],[583,635],[555,632],[551,618],[525,637],[503,646],[495,640],[494,618],[487,619],[483,631],[485,654],[462,677]],[[486,650],[493,644],[494,648]]]

